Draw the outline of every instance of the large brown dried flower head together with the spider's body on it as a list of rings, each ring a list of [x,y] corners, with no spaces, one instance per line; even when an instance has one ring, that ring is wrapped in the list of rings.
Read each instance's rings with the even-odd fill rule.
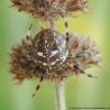
[[[26,36],[11,52],[11,72],[19,80],[66,79],[85,74],[91,65],[101,62],[97,45],[85,36],[72,35],[70,41],[58,31],[45,29],[35,37]]]

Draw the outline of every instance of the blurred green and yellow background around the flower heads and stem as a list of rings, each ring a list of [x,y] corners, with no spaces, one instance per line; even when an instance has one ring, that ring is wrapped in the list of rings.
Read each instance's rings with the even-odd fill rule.
[[[89,13],[68,19],[75,33],[90,35],[102,54],[102,67],[92,67],[86,76],[72,77],[66,85],[67,110],[69,107],[110,107],[110,0],[91,0]],[[28,28],[34,23],[36,33],[41,23],[11,7],[10,0],[0,0],[0,110],[55,110],[54,87],[45,80],[32,98],[37,80],[25,80],[16,85],[9,73],[9,53],[12,45],[20,43]],[[47,26],[46,23],[44,23]],[[65,31],[64,21],[56,29]],[[91,109],[92,110],[92,109]],[[96,109],[97,110],[97,109]]]

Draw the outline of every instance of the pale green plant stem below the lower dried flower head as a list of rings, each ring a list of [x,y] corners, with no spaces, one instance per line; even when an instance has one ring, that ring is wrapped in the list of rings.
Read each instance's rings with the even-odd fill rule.
[[[55,82],[55,98],[56,98],[56,110],[66,110],[65,105],[65,84]]]

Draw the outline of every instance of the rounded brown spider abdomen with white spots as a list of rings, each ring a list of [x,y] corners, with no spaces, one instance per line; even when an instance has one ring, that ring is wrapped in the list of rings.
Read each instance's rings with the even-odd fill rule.
[[[34,37],[32,44],[37,63],[47,68],[62,65],[68,55],[65,36],[58,31],[43,30]]]

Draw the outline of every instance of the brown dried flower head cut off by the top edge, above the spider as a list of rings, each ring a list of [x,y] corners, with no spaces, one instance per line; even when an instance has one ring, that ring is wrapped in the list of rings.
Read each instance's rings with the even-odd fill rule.
[[[26,11],[34,18],[55,20],[76,11],[87,11],[88,0],[11,0],[19,11]]]

